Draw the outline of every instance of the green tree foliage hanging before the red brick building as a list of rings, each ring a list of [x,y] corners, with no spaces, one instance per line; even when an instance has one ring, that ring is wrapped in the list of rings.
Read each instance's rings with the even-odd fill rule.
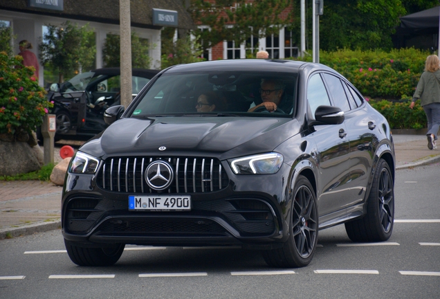
[[[188,10],[195,24],[210,27],[197,33],[202,40],[212,45],[223,40],[241,44],[250,35],[266,37],[290,24],[291,19],[280,17],[290,4],[288,0],[192,0]]]

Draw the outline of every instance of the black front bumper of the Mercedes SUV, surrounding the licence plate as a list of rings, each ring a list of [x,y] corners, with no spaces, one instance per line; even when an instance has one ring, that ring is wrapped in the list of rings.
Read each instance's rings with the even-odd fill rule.
[[[130,192],[100,188],[95,176],[66,176],[62,233],[83,246],[125,243],[152,246],[276,248],[288,235],[290,167],[277,174],[234,176],[226,188],[188,193],[187,212],[129,211]],[[172,194],[169,194],[172,195]]]

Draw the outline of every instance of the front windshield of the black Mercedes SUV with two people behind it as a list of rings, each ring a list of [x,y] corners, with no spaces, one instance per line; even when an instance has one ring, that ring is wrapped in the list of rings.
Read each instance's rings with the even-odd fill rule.
[[[296,73],[165,73],[138,102],[131,117],[177,114],[289,116],[295,107],[296,89]],[[277,109],[268,113],[263,102],[275,102]],[[255,109],[258,105],[263,107]]]

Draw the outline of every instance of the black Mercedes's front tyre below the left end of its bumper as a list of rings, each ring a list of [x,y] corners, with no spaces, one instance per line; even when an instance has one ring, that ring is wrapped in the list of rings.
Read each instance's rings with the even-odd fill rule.
[[[77,246],[75,242],[64,239],[68,257],[78,266],[111,266],[118,262],[125,244],[115,244],[112,247],[86,248]]]

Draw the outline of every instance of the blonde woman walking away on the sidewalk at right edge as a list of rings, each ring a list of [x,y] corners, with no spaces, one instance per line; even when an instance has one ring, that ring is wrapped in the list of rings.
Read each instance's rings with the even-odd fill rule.
[[[440,127],[440,60],[437,55],[426,58],[425,69],[412,96],[411,109],[419,99],[428,118],[428,148],[437,149],[437,133]]]

